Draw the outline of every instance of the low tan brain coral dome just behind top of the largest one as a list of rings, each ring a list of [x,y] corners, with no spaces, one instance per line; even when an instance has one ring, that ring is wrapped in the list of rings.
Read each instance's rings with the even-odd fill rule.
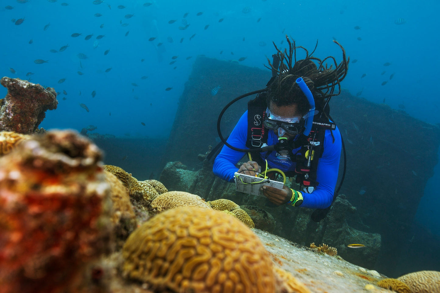
[[[211,206],[200,196],[184,191],[168,191],[160,194],[151,202],[151,209],[154,213],[182,206],[198,206],[200,208],[211,209]]]

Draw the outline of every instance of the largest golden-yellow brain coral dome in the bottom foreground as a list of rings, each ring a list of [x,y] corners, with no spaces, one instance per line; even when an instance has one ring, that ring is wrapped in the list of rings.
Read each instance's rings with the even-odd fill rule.
[[[125,242],[123,274],[173,292],[275,292],[269,253],[224,212],[182,207],[162,212]]]

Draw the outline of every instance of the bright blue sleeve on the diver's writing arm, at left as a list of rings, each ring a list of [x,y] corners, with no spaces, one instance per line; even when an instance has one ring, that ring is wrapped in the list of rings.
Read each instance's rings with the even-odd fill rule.
[[[227,139],[227,143],[239,149],[248,149],[248,147],[246,147],[246,139],[247,111],[242,115],[240,120],[238,120],[237,125],[235,125],[231,135]],[[235,167],[235,164],[237,164],[237,162],[240,161],[244,155],[245,153],[243,152],[232,150],[227,146],[223,146],[220,154],[217,155],[214,161],[214,174],[219,176],[221,179],[233,182],[234,173],[238,170],[238,168]]]

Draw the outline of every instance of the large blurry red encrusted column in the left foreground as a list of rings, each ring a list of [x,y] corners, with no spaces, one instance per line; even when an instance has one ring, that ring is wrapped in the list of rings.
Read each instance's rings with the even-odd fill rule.
[[[71,131],[48,132],[0,157],[1,292],[65,292],[112,249],[102,154]]]

